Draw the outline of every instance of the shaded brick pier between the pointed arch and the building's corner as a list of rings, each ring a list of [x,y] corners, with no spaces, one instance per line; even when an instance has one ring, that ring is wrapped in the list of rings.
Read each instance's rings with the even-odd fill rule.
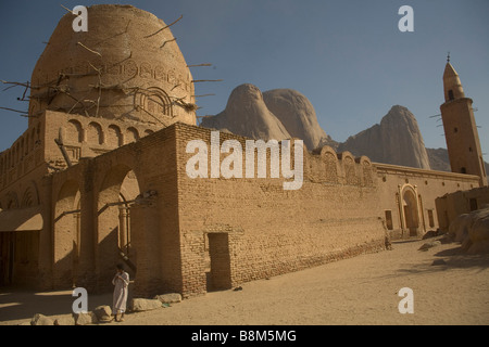
[[[131,242],[136,248],[136,292],[152,296],[181,293],[180,237],[175,129],[168,127],[136,143],[141,194],[130,208]]]

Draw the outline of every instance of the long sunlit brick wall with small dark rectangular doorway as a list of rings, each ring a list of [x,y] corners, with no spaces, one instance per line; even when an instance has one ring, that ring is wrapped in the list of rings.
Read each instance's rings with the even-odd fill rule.
[[[321,172],[326,166],[321,154],[304,152],[304,182],[296,191],[285,191],[281,178],[190,179],[185,167],[193,154],[186,153],[186,144],[201,139],[210,149],[211,133],[186,125],[176,129],[184,294],[202,293],[209,279],[218,281],[216,288],[226,281],[230,287],[384,247],[378,194],[373,180],[364,179],[366,158],[344,153],[351,165],[346,170],[340,155],[330,177]],[[244,138],[221,133],[221,141],[228,139],[244,149]],[[351,172],[354,177],[347,177]],[[214,243],[214,234],[227,234],[229,257],[217,259],[228,264],[215,264],[226,237]],[[204,273],[206,253],[211,275]]]

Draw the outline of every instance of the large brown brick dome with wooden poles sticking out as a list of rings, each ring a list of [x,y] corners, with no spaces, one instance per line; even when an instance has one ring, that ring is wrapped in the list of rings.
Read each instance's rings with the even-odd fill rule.
[[[196,123],[192,77],[162,20],[118,4],[89,7],[87,31],[73,29],[75,18],[61,18],[37,61],[30,115],[54,110],[162,126]]]

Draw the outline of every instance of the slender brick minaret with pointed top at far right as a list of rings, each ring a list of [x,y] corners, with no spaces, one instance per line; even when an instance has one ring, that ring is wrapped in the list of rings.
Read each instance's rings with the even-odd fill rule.
[[[473,101],[465,98],[459,74],[450,64],[450,55],[444,67],[443,89],[444,103],[440,110],[452,171],[479,176],[480,187],[487,185]]]

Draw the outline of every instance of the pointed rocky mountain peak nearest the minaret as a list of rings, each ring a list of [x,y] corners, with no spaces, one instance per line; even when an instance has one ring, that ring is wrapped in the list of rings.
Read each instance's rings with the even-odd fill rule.
[[[429,158],[414,115],[403,106],[392,106],[380,124],[348,138],[337,147],[373,162],[429,169]]]

